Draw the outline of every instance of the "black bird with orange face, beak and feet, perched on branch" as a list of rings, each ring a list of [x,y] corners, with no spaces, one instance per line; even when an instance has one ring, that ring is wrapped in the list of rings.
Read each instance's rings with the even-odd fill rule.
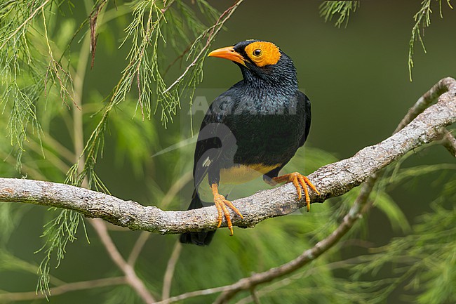
[[[235,185],[263,177],[269,185],[291,182],[302,190],[310,209],[311,181],[299,172],[279,172],[304,145],[309,135],[311,104],[297,84],[293,60],[269,41],[250,39],[218,48],[209,57],[231,60],[243,79],[213,100],[194,152],[194,192],[188,210],[215,204],[217,228],[223,217],[233,235],[229,209],[241,212],[227,199]],[[301,190],[302,187],[302,190]],[[180,242],[206,246],[215,230],[186,232]]]

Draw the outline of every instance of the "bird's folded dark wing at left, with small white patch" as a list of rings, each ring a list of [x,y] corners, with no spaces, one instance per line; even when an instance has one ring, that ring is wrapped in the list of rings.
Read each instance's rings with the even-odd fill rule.
[[[236,88],[240,83],[215,98],[201,123],[194,155],[193,177],[195,187],[209,171],[218,174],[219,159],[227,147],[236,144],[232,131],[227,126],[227,117],[236,104]]]

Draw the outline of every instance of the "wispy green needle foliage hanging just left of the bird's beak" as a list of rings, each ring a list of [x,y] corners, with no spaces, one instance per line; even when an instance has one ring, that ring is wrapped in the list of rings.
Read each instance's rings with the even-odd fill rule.
[[[189,9],[186,9],[187,6],[180,3],[180,1],[177,2],[180,4],[180,11],[169,9],[174,2],[168,1],[166,6],[163,7],[160,7],[157,1],[134,2],[133,21],[126,27],[126,38],[121,44],[121,46],[124,46],[127,41],[131,44],[127,57],[128,65],[122,72],[119,84],[112,91],[111,98],[105,109],[102,110],[100,122],[86,142],[86,146],[83,149],[83,156],[86,159],[83,168],[79,168],[79,164],[75,164],[69,171],[68,181],[74,183],[74,185],[81,185],[83,180],[87,178],[88,185],[93,185],[95,189],[106,190],[94,171],[95,164],[103,149],[109,113],[114,107],[119,106],[121,102],[126,100],[127,93],[130,92],[131,86],[135,81],[138,86],[137,108],[141,111],[142,119],[145,119],[145,117],[150,118],[152,114],[152,93],[155,93],[156,98],[154,112],[161,107],[161,121],[165,126],[172,119],[172,115],[176,113],[182,99],[182,93],[187,92],[190,100],[192,99],[194,89],[201,81],[203,60],[206,58],[206,53],[208,53],[208,47],[212,44],[224,22],[228,20],[237,7],[232,6],[224,18],[213,20],[216,11],[206,1],[198,0],[198,8],[201,13],[207,13],[207,17],[215,22],[212,27],[207,28],[196,18],[194,13],[189,13]],[[176,12],[180,15],[173,16],[170,19],[183,18],[187,23],[182,23],[180,27],[177,26],[177,30],[168,29],[166,32],[162,31],[167,14],[173,15]],[[166,27],[168,28],[168,26]],[[164,79],[166,69],[162,68],[166,64],[163,64],[159,58],[159,54],[165,53],[166,41],[171,41],[170,44],[173,46],[185,45],[188,37],[192,37],[192,34],[203,28],[206,29],[198,37],[195,37],[190,46],[187,46],[184,50],[177,48],[176,51],[182,52],[181,56],[185,56],[185,61],[190,63],[180,77],[177,77],[172,84],[166,86]],[[204,40],[206,40],[205,44],[203,44]],[[186,53],[188,55],[185,55]],[[168,56],[165,59],[169,60],[170,58]],[[174,63],[175,61],[170,62],[170,65]],[[154,88],[151,85],[154,85]]]

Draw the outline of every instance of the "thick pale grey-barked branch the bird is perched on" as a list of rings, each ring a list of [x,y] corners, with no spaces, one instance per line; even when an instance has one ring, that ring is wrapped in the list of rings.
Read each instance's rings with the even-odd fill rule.
[[[328,164],[311,173],[309,179],[321,192],[318,197],[311,193],[311,201],[323,202],[348,192],[407,152],[437,139],[445,126],[455,123],[456,81],[446,78],[438,84],[441,82],[445,82],[448,92],[394,136],[364,148],[354,157]],[[233,201],[244,216],[241,220],[232,213],[233,224],[253,227],[267,218],[284,216],[300,209],[305,202],[295,200],[295,191],[293,185],[283,185]],[[100,192],[39,180],[0,178],[0,201],[72,209],[89,218],[102,218],[131,230],[161,234],[215,229],[217,225],[215,206],[189,211],[162,211],[155,206],[142,206],[135,201],[124,201]]]

